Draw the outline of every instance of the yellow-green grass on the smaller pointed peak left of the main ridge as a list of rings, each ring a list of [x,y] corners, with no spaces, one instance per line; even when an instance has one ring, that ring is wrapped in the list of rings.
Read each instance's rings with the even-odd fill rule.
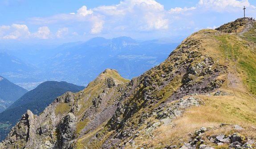
[[[86,111],[88,111],[91,107],[93,107],[93,98],[97,98],[99,94],[103,92],[107,87],[107,78],[114,78],[117,84],[119,84],[119,88],[125,85],[125,83],[130,82],[130,80],[122,78],[117,71],[106,69],[104,72],[102,72],[97,78],[95,78],[92,82],[89,83],[89,85],[83,90],[81,93],[77,94],[76,96],[76,103],[77,105],[82,105],[81,109],[75,113],[77,116],[77,130],[76,133],[79,135],[82,131],[82,129],[89,124],[90,120],[89,118],[86,118],[85,120],[82,120],[83,115]],[[110,95],[110,93],[114,90],[114,88],[109,88],[108,93],[106,96]],[[117,93],[117,90],[114,90],[115,93],[111,96],[110,100],[108,101],[107,105],[112,105],[114,103],[114,100],[117,99],[121,94]],[[78,98],[79,97],[79,98]],[[69,106],[67,103],[60,103],[56,107],[56,113],[61,114],[67,114],[71,110],[72,106]],[[97,112],[101,112],[100,110]],[[77,140],[77,148],[78,149],[84,149],[84,146],[91,140],[91,138],[95,135],[96,132],[103,129],[104,125],[106,125],[106,122],[104,122],[102,125],[100,125],[97,129],[94,131],[87,133],[86,136],[81,137]],[[111,132],[110,132],[111,133]],[[108,134],[106,134],[108,136]],[[93,143],[93,142],[92,142]],[[96,144],[93,144],[96,145]],[[100,145],[100,144],[99,144]],[[98,146],[94,146],[95,148],[98,148]],[[92,148],[92,146],[89,146],[89,148]]]

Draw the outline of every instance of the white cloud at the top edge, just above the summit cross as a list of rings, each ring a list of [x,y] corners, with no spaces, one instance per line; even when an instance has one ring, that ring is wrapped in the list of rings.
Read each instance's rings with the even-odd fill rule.
[[[212,9],[216,12],[229,12],[234,11],[233,8],[235,7],[249,7],[250,3],[248,0],[200,0],[197,6],[205,9]]]

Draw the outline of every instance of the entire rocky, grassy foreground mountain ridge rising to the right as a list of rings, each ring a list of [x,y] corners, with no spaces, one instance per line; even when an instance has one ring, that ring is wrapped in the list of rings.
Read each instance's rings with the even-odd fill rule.
[[[253,21],[241,20],[241,27]],[[132,80],[106,69],[39,116],[28,110],[0,148],[232,148],[236,141],[225,139],[233,133],[244,136],[243,149],[255,147],[255,27],[243,34],[198,31]]]

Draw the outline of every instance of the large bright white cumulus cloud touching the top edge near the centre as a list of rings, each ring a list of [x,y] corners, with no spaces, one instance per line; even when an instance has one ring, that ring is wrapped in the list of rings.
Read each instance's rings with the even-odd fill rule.
[[[150,31],[168,28],[163,5],[155,0],[124,0],[112,6],[100,6],[93,12],[106,18],[106,28]]]

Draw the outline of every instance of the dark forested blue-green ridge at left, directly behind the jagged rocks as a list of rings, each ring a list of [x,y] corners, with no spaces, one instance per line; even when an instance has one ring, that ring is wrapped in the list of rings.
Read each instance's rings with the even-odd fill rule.
[[[3,140],[6,137],[11,127],[20,120],[21,115],[28,109],[35,114],[40,114],[58,96],[67,91],[75,93],[84,88],[85,86],[77,86],[67,82],[47,81],[41,83],[0,113],[0,139]]]

